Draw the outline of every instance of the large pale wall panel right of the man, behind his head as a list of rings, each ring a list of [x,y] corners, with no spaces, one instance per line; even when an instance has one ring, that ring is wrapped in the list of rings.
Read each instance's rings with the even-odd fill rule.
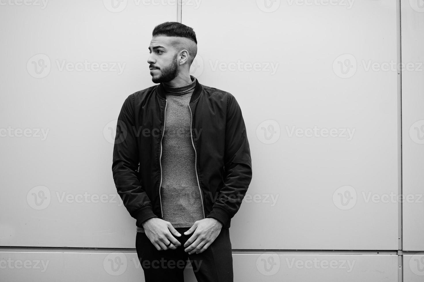
[[[237,98],[248,131],[234,248],[398,248],[396,1],[320,3],[182,6],[192,74]]]

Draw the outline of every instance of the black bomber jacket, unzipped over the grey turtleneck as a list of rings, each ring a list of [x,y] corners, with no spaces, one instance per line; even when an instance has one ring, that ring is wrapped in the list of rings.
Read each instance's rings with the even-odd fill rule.
[[[162,216],[162,138],[167,100],[162,84],[129,95],[117,120],[112,173],[117,193],[136,225]],[[229,92],[196,83],[190,135],[205,218],[229,228],[252,178],[245,123]]]

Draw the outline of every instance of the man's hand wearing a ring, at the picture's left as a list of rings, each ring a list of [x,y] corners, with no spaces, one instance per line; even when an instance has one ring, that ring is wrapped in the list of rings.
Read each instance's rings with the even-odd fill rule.
[[[160,218],[149,218],[141,225],[144,228],[146,236],[158,251],[167,250],[168,248],[175,250],[177,246],[181,246],[181,243],[174,237],[174,235],[180,237],[181,234],[169,221],[164,221]],[[170,242],[171,245],[167,247]]]

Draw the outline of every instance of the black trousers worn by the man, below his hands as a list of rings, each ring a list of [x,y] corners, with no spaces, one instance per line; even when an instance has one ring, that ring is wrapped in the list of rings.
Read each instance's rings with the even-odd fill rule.
[[[145,233],[137,232],[137,256],[146,282],[184,282],[184,268],[193,269],[198,282],[233,282],[233,258],[229,229],[221,229],[215,241],[200,254],[188,254],[184,243],[192,234],[184,235],[190,227],[176,228],[181,243],[175,250],[158,251]],[[188,259],[188,263],[187,263]]]

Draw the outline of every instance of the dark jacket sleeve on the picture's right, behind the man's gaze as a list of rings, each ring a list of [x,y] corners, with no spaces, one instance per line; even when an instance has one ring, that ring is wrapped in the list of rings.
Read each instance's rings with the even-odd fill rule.
[[[237,100],[228,93],[225,129],[223,187],[207,218],[223,226],[240,209],[252,179],[252,163],[243,115]]]

